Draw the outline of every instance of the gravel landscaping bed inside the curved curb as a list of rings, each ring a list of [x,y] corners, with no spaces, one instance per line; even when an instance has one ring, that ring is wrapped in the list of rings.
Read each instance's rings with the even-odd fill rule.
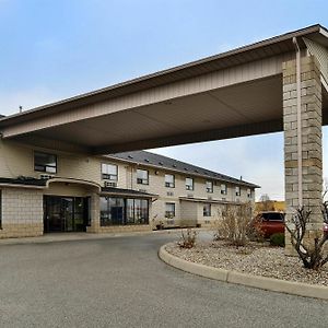
[[[285,256],[282,247],[250,244],[236,248],[220,241],[198,243],[191,249],[180,248],[177,243],[171,243],[166,245],[165,249],[169,254],[190,262],[328,286],[327,265],[320,271],[304,269],[300,259]]]

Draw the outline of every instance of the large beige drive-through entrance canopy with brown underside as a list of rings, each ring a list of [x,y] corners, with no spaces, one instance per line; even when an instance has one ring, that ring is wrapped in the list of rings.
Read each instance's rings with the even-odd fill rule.
[[[294,37],[321,65],[327,124],[328,32],[314,25],[4,117],[0,131],[93,154],[282,131],[282,63],[295,58]]]

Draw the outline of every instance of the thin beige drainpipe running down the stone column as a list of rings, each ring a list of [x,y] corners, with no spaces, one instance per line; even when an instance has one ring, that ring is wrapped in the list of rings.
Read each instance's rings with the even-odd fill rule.
[[[301,107],[301,51],[296,37],[293,37],[296,51],[296,117],[297,117],[297,176],[298,176],[298,207],[303,206],[303,172],[302,172],[302,107]]]

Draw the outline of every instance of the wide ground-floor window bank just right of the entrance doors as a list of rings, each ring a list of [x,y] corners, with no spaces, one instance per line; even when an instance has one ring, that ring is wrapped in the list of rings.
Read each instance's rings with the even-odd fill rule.
[[[147,199],[101,197],[101,225],[148,224]]]

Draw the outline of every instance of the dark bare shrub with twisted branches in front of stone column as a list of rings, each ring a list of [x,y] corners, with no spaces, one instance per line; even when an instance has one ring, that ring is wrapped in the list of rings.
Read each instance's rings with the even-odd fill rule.
[[[323,204],[323,215],[325,222],[327,222],[328,203]],[[301,207],[296,210],[296,213],[292,216],[292,223],[294,229],[290,229],[286,224],[285,227],[291,235],[291,243],[297,251],[304,268],[318,270],[328,262],[328,254],[324,255],[324,245],[328,239],[328,236],[324,234],[320,237],[314,238],[314,245],[306,245],[304,237],[306,235],[306,225],[311,215],[309,210],[305,210]]]

